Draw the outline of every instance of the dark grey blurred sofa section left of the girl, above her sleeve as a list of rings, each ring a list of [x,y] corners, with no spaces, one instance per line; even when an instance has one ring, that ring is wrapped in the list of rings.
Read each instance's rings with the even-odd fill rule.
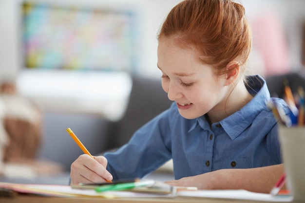
[[[132,75],[133,87],[125,114],[114,124],[111,146],[121,147],[133,133],[153,117],[168,109],[172,101],[167,97],[160,78]]]

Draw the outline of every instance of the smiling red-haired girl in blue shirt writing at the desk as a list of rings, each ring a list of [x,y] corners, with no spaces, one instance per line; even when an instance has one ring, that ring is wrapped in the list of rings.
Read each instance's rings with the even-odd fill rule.
[[[176,180],[168,184],[270,192],[284,167],[266,82],[245,74],[251,33],[244,7],[184,0],[158,42],[162,87],[174,103],[117,151],[79,156],[71,184],[142,178],[172,158]]]

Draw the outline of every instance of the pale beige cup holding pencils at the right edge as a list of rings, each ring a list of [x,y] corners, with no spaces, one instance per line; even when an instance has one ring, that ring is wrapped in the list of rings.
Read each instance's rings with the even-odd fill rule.
[[[287,187],[294,201],[305,202],[305,127],[279,126]]]

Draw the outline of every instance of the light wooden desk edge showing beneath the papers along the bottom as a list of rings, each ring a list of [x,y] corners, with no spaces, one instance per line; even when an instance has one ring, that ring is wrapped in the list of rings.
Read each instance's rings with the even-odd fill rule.
[[[251,200],[233,200],[216,198],[57,198],[34,195],[18,195],[15,198],[0,198],[1,203],[270,203]]]

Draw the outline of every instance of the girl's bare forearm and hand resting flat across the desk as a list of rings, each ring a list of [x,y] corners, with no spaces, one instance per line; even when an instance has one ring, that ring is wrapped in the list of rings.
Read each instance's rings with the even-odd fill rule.
[[[219,169],[212,172],[167,181],[173,186],[193,186],[198,189],[245,189],[269,193],[285,172],[284,164],[256,168]],[[286,186],[284,185],[284,189]]]

